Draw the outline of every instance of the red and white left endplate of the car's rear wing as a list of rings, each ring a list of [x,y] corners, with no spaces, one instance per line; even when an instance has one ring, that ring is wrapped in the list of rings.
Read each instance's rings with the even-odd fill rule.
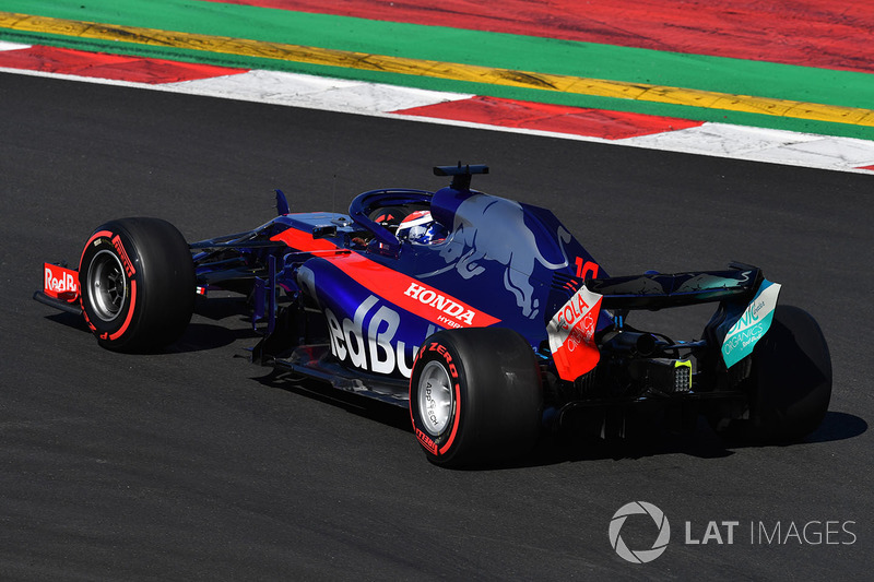
[[[546,325],[550,351],[563,380],[576,380],[591,371],[601,358],[593,338],[601,297],[583,285]]]

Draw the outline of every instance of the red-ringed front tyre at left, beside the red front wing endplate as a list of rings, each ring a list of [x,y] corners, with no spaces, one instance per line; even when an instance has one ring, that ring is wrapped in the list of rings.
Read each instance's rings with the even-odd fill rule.
[[[82,251],[79,281],[85,321],[106,348],[157,351],[191,320],[191,252],[165,221],[122,218],[99,226]]]

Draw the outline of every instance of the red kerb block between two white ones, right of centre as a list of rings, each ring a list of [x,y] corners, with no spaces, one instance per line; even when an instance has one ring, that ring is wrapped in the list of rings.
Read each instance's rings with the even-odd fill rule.
[[[702,124],[701,121],[689,121],[672,117],[605,111],[497,97],[472,97],[470,99],[438,103],[392,112],[472,121],[506,128],[569,133],[572,135],[603,138],[605,140],[650,135]]]

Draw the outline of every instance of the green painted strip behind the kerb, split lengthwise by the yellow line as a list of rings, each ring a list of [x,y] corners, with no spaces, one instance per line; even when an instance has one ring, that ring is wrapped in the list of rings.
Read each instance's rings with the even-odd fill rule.
[[[435,26],[374,22],[288,11],[184,0],[88,0],[82,4],[48,0],[2,0],[3,10],[28,14],[90,20],[182,31],[193,34],[233,36],[273,43],[311,45],[400,56],[412,59],[469,63],[647,85],[687,87],[706,92],[737,93],[761,97],[866,108],[874,103],[874,78],[863,73],[827,71],[773,63],[720,59],[630,49],[587,43],[458,31]],[[231,64],[329,74],[347,79],[421,86],[442,91],[479,93],[542,103],[602,107],[688,119],[775,127],[796,131],[874,139],[870,128],[845,127],[823,121],[773,118],[746,111],[717,111],[688,105],[642,103],[594,95],[540,92],[452,79],[338,69],[323,64],[276,62],[272,59],[203,54],[173,47],[142,47],[126,43],[71,38],[45,33],[0,31],[0,37],[21,41],[72,46],[113,52],[146,54],[198,62]],[[690,100],[689,103],[695,103]]]

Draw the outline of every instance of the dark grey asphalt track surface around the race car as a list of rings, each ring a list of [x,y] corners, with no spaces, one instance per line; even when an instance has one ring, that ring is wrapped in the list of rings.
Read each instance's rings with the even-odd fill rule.
[[[851,580],[874,565],[871,177],[10,74],[0,103],[0,578]],[[131,356],[31,300],[42,262],[76,262],[106,219],[161,216],[196,240],[267,222],[273,188],[343,212],[363,190],[439,188],[432,165],[459,159],[492,166],[480,189],[551,207],[611,274],[763,266],[829,340],[824,425],[764,448],[704,424],[565,436],[448,471],[403,411],[249,364],[231,301]],[[694,335],[707,314],[651,319]],[[646,565],[607,536],[636,500],[672,527]],[[723,544],[686,543],[710,522]],[[749,531],[778,524],[770,543]],[[654,525],[629,519],[623,538],[646,549]]]

